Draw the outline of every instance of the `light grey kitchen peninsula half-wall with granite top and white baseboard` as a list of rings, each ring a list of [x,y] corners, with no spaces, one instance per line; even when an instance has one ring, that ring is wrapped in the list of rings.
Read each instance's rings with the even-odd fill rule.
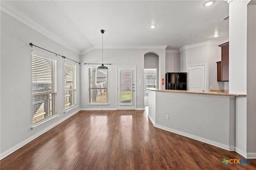
[[[236,97],[246,95],[148,90],[148,117],[155,127],[235,150]]]

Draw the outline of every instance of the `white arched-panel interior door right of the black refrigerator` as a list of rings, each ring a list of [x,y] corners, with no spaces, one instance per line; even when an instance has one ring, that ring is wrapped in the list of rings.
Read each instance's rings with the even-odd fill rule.
[[[188,90],[206,91],[206,65],[188,65]]]

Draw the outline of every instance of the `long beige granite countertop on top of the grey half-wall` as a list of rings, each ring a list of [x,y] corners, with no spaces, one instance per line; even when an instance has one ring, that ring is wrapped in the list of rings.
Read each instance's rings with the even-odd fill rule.
[[[219,91],[188,91],[188,90],[166,90],[166,89],[156,89],[147,88],[151,91],[162,91],[162,92],[172,92],[172,93],[190,93],[190,94],[203,94],[203,95],[224,95],[224,96],[246,96],[244,94],[236,94],[229,92],[219,92]]]

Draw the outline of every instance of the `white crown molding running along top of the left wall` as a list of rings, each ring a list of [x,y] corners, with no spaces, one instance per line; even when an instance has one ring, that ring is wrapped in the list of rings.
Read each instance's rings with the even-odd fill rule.
[[[70,49],[71,51],[74,51],[77,54],[80,54],[80,51],[78,49],[70,46],[68,43],[64,42],[63,40],[61,40],[60,38],[58,38],[57,36],[49,32],[48,30],[46,30],[45,28],[43,28],[42,26],[40,26],[39,24],[31,20],[28,16],[24,15],[22,12],[20,12],[19,10],[17,10],[16,8],[11,6],[10,4],[8,4],[8,2],[4,0],[1,0],[1,11],[12,16],[13,18],[22,22],[26,26],[29,26],[30,28],[43,34],[47,38],[50,38],[54,42],[59,43],[60,45]]]

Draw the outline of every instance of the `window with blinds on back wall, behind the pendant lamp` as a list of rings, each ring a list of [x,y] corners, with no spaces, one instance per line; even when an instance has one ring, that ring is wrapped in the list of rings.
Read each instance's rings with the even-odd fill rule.
[[[108,70],[89,68],[89,103],[107,103]]]

